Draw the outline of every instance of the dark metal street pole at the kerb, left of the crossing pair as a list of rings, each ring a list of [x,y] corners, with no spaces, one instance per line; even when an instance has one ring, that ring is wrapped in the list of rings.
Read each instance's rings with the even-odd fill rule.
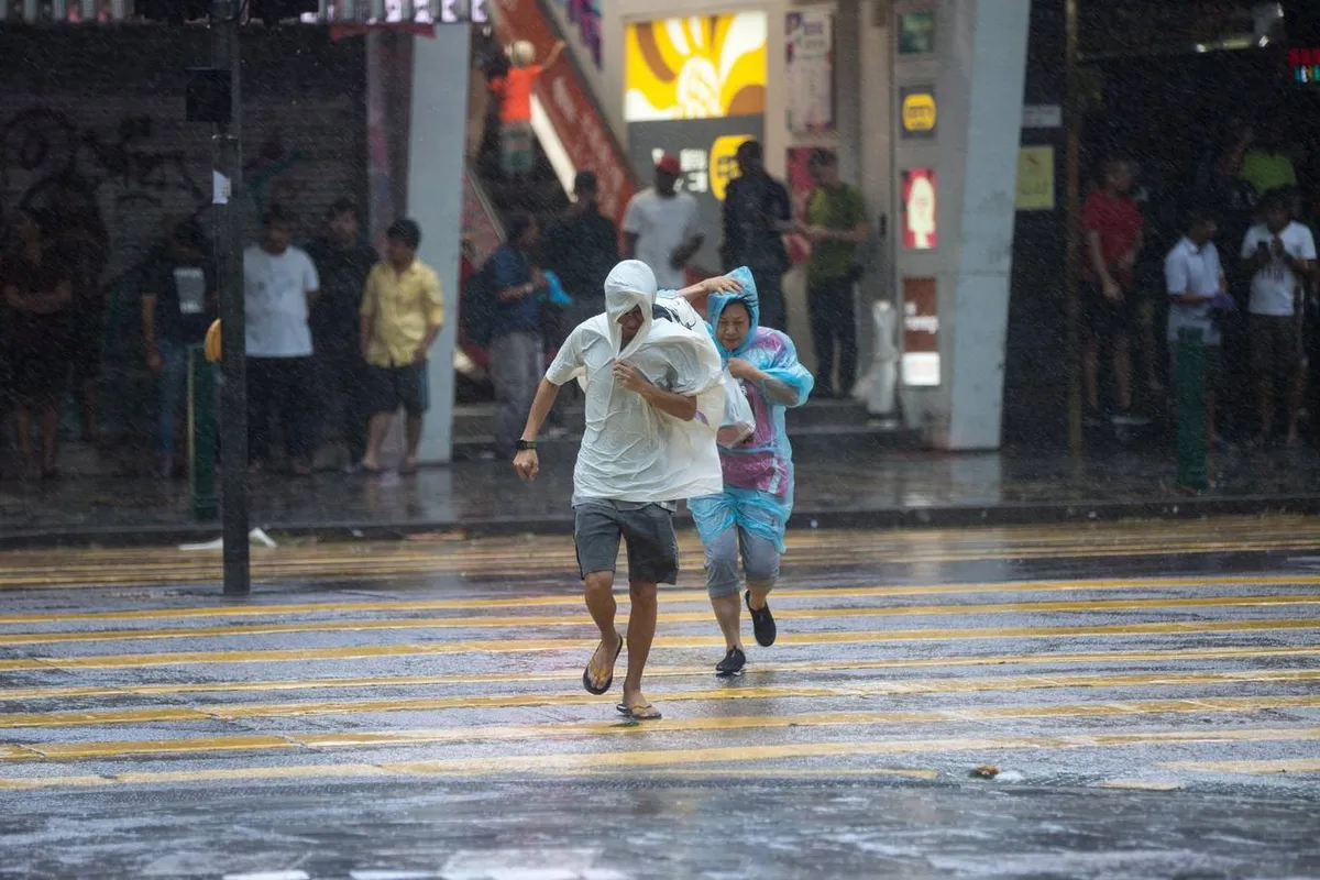
[[[220,376],[220,505],[224,534],[224,595],[246,596],[248,573],[247,511],[247,344],[243,311],[243,92],[239,71],[240,0],[215,0],[211,7],[213,65],[230,71],[232,113],[215,127],[215,169],[228,178],[228,197],[215,198],[215,269],[220,292],[223,334]],[[219,194],[218,194],[219,195]]]

